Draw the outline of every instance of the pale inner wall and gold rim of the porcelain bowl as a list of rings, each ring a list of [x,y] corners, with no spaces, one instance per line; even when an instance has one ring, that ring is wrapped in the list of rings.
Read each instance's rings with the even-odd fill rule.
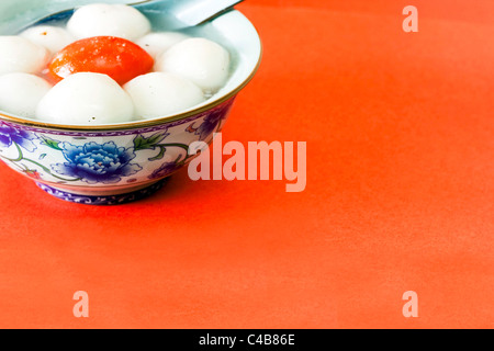
[[[2,0],[0,2],[0,35],[14,35],[19,33],[26,24],[33,20],[44,16],[47,13],[55,13],[60,10],[79,7],[81,4],[91,2],[106,2],[106,3],[136,3],[138,1],[122,1],[122,0]],[[159,31],[159,23],[153,21],[154,31]],[[5,112],[0,111],[0,120],[13,121],[18,123],[27,123],[31,125],[48,126],[54,128],[71,128],[71,129],[91,129],[103,128],[112,129],[122,126],[138,127],[142,124],[161,123],[180,117],[189,116],[193,113],[199,113],[209,106],[215,105],[218,102],[229,98],[233,93],[238,92],[255,73],[260,56],[261,43],[259,35],[254,25],[239,11],[233,10],[222,14],[221,16],[201,24],[195,27],[182,31],[192,36],[202,36],[222,44],[228,49],[232,58],[232,73],[226,84],[221,88],[211,99],[206,100],[200,105],[193,106],[189,110],[182,111],[179,114],[161,116],[138,122],[126,122],[112,125],[100,126],[68,126],[43,123],[35,118],[20,118],[11,116]]]

